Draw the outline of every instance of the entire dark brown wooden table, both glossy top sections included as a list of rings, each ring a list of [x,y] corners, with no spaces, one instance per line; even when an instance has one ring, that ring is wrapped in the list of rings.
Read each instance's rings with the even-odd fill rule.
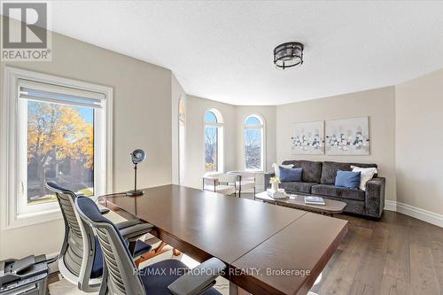
[[[311,276],[294,279],[292,284],[278,276],[235,276],[228,272],[229,280],[257,295],[305,290],[314,283],[323,262],[329,260],[346,232],[346,221],[173,184],[145,189],[139,197],[107,195],[99,202],[125,217],[133,215],[152,223],[154,235],[200,262],[216,257],[229,270],[254,265],[274,268],[279,263],[287,268],[313,270]],[[304,242],[306,237],[309,243]],[[252,288],[257,282],[260,291]]]

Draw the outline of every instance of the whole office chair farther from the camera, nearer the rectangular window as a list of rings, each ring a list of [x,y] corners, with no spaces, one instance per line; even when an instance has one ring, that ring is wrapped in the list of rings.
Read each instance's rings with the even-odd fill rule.
[[[58,270],[66,280],[77,284],[80,290],[98,291],[103,275],[103,254],[94,232],[82,226],[74,205],[77,195],[55,183],[48,182],[46,187],[55,192],[65,221],[65,238],[58,256]],[[108,212],[107,209],[99,211],[100,214]],[[151,250],[151,245],[139,240],[152,230],[151,224],[123,221],[116,226],[125,238],[125,246],[132,253],[133,259]]]

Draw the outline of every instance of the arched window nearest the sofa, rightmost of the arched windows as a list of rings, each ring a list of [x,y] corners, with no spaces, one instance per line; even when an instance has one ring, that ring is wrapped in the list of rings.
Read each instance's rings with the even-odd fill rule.
[[[264,121],[253,114],[245,119],[245,169],[264,170]]]

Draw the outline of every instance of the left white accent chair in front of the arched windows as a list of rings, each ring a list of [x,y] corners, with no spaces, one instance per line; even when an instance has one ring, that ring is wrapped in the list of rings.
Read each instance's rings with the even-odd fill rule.
[[[238,175],[214,173],[203,176],[203,190],[210,190],[222,195],[237,195]]]

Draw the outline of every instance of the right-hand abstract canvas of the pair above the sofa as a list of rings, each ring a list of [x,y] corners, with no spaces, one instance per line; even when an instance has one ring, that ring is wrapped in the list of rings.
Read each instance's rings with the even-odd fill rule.
[[[326,121],[327,155],[369,155],[369,118]]]

